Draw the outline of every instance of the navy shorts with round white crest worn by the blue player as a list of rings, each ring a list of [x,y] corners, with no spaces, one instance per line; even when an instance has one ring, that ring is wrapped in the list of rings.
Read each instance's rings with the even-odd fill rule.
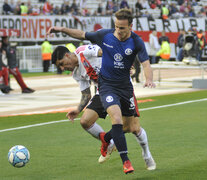
[[[130,80],[112,81],[99,75],[100,99],[105,110],[118,105],[123,116],[133,116],[135,111],[133,86]]]

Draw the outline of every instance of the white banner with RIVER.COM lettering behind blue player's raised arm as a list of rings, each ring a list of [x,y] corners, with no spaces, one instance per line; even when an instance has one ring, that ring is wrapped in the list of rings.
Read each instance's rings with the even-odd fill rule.
[[[38,42],[46,38],[46,32],[51,26],[78,28],[84,31],[94,31],[100,28],[110,28],[110,17],[72,17],[72,16],[1,16],[0,29],[15,29],[20,32],[11,41]],[[50,37],[51,41],[71,40],[66,34],[57,33]]]

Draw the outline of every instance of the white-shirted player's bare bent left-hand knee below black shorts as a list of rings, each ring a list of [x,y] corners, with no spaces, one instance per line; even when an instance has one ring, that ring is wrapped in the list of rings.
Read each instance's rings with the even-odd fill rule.
[[[86,109],[80,119],[80,123],[83,128],[89,128],[96,122],[98,118],[99,116],[96,111],[92,109]]]

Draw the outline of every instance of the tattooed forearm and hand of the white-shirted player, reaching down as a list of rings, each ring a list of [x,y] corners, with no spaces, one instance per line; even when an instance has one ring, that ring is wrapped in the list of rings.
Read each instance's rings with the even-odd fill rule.
[[[74,109],[70,112],[67,113],[66,117],[71,120],[72,122],[74,121],[74,119],[79,115],[79,113],[86,107],[86,105],[88,104],[89,100],[91,99],[91,91],[90,91],[90,87],[81,91],[82,93],[82,97],[81,97],[81,101],[77,107],[77,109]]]

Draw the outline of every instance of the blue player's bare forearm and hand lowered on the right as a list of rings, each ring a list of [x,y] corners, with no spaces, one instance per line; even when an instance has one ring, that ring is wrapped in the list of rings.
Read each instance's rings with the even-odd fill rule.
[[[144,61],[142,63],[142,66],[143,66],[144,75],[145,75],[145,79],[146,79],[146,82],[144,83],[144,87],[154,88],[156,85],[153,82],[153,71],[150,66],[150,61],[149,60]]]

